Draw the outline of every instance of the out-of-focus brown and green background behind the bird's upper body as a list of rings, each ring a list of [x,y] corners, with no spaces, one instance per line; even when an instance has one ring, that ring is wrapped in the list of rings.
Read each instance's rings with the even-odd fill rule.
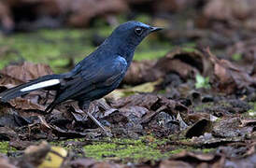
[[[165,28],[144,40],[135,60],[160,58],[177,46],[256,60],[255,0],[1,0],[0,68],[29,61],[67,71],[130,20]]]

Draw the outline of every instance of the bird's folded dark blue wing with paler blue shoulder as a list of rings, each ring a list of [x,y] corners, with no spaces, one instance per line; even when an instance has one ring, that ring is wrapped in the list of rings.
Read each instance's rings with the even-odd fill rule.
[[[127,63],[121,56],[95,63],[90,68],[84,68],[76,76],[61,82],[61,90],[57,92],[52,104],[59,104],[68,99],[74,99],[86,92],[107,88],[121,80],[127,70]]]

